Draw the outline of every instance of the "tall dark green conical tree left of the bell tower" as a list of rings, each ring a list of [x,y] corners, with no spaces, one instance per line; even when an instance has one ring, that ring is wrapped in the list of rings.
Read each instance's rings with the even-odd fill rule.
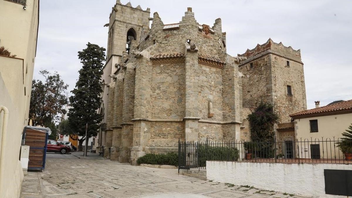
[[[72,130],[79,136],[78,148],[82,149],[82,143],[86,138],[96,136],[102,116],[97,112],[100,107],[101,82],[103,74],[103,61],[105,61],[105,48],[89,43],[87,48],[78,52],[82,68],[79,70],[79,78],[76,87],[71,91],[70,104],[72,108],[68,113],[68,120]],[[86,137],[86,124],[88,131]]]

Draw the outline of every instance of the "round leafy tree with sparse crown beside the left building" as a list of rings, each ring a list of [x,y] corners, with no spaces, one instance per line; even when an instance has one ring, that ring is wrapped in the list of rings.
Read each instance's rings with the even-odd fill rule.
[[[49,127],[58,114],[66,113],[65,105],[68,104],[67,88],[61,76],[47,70],[40,70],[45,81],[32,81],[31,104],[29,107],[29,118],[33,125]]]

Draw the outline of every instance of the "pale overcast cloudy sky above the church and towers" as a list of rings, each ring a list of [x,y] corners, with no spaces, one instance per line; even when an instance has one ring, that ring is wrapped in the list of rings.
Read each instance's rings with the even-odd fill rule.
[[[127,0],[121,0],[126,4]],[[109,13],[115,0],[43,0],[34,78],[57,71],[74,88],[81,68],[77,51],[87,42],[106,48]],[[178,23],[192,7],[200,24],[222,19],[227,53],[242,54],[270,37],[301,49],[308,109],[352,99],[352,1],[328,0],[131,0],[158,12],[164,24]]]

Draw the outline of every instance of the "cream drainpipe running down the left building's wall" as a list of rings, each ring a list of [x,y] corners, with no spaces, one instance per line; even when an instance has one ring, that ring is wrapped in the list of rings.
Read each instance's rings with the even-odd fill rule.
[[[6,132],[7,132],[7,121],[8,121],[8,109],[5,106],[0,106],[0,112],[4,111],[4,118],[2,120],[2,131],[1,131],[1,154],[0,154],[0,196],[3,195],[4,185],[4,169],[5,169],[5,144],[6,144]],[[1,121],[1,120],[0,120]]]

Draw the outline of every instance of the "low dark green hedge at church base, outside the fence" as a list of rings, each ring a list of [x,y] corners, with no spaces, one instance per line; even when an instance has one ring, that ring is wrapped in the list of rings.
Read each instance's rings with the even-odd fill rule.
[[[172,165],[178,166],[178,154],[177,153],[166,153],[166,154],[153,154],[148,153],[137,160],[138,165],[142,163],[146,164],[157,164],[157,165]]]

